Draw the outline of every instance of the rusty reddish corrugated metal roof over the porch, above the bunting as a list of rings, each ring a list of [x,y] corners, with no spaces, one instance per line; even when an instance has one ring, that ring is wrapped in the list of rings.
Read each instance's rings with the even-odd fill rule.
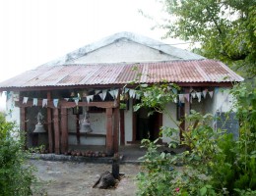
[[[1,88],[125,84],[130,81],[228,82],[242,81],[222,62],[214,60],[170,61],[134,64],[40,66],[0,83]]]

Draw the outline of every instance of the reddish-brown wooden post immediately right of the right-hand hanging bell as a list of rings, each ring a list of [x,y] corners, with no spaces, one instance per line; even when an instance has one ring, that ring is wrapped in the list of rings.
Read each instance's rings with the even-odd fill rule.
[[[106,109],[106,154],[113,154],[113,123],[112,123],[112,108]]]

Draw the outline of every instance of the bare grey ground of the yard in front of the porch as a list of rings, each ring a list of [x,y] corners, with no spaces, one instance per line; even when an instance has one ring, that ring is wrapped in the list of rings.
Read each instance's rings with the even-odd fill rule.
[[[32,160],[31,163],[37,168],[36,176],[42,181],[39,191],[34,195],[136,195],[135,176],[140,172],[139,165],[120,165],[120,172],[125,175],[119,181],[117,188],[97,189],[93,188],[96,180],[102,172],[111,172],[111,165],[42,160]]]

